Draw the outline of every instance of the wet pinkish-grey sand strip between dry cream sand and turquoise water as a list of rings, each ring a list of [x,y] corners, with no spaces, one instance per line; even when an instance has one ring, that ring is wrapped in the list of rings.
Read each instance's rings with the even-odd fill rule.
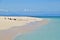
[[[38,27],[46,25],[47,23],[48,23],[48,20],[34,21],[24,26],[18,26],[18,27],[15,26],[8,30],[0,30],[0,40],[14,40],[14,38],[18,34],[23,35],[24,33],[33,31]]]

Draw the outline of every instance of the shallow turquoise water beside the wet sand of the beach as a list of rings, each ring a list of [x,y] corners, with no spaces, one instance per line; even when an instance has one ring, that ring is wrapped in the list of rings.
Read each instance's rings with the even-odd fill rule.
[[[60,18],[50,18],[51,22],[34,32],[17,36],[15,40],[60,40]]]

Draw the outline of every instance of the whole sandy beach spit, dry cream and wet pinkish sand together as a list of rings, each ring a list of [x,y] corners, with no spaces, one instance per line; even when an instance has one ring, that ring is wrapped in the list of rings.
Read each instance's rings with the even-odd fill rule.
[[[48,20],[35,17],[0,17],[0,40],[14,40],[18,34],[46,25]]]

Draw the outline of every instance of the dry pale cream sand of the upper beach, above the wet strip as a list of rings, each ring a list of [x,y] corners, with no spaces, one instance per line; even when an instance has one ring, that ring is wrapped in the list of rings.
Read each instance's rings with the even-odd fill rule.
[[[11,18],[12,20],[9,20]],[[13,19],[16,20],[13,20]],[[24,26],[30,22],[34,21],[42,21],[42,18],[34,18],[34,17],[6,17],[0,16],[0,30],[7,30],[14,26]]]

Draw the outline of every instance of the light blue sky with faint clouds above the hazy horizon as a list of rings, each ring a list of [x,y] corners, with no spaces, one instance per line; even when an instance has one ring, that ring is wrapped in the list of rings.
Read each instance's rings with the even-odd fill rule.
[[[0,12],[59,12],[60,0],[0,0]]]

